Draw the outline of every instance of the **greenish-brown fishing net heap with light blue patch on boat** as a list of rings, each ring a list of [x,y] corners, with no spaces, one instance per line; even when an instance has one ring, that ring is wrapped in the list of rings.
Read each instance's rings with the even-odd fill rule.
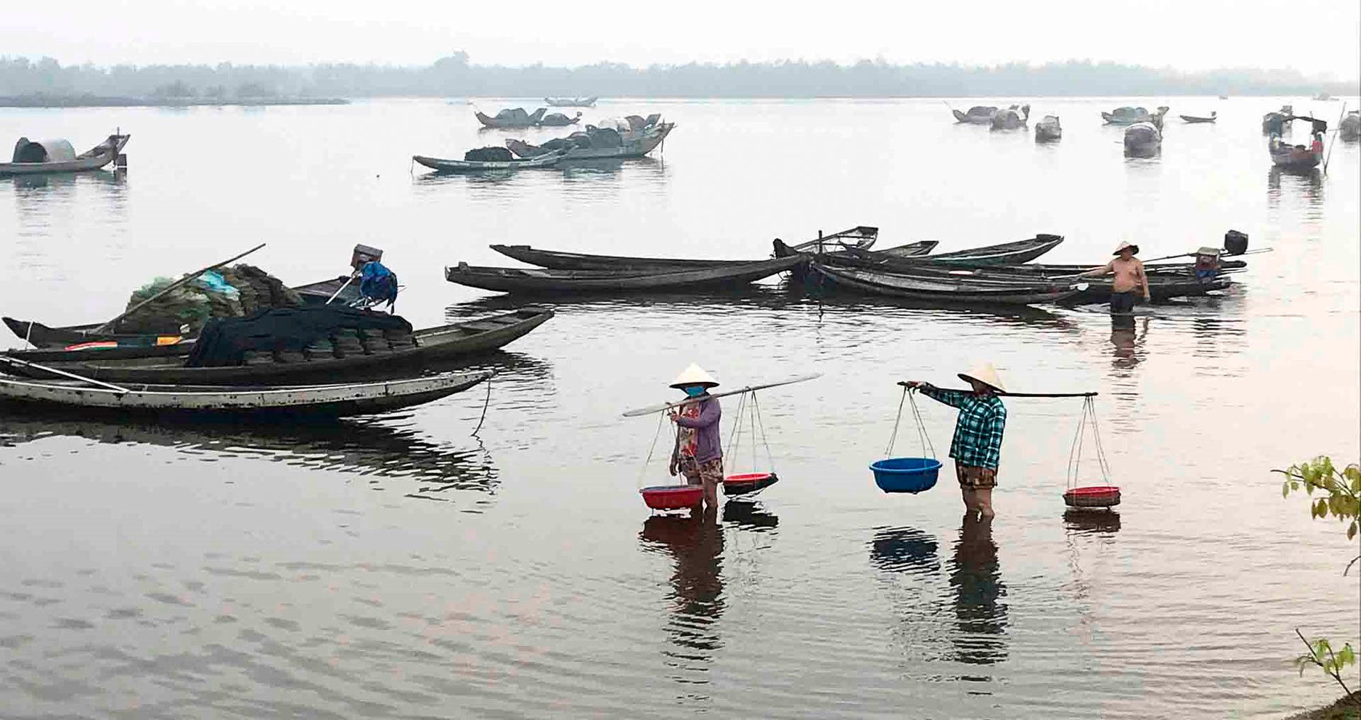
[[[176,280],[157,278],[128,298],[127,309],[155,297]],[[240,264],[208,271],[155,298],[118,324],[118,332],[197,333],[210,318],[241,317],[269,308],[297,308],[302,297],[282,280],[255,267]]]

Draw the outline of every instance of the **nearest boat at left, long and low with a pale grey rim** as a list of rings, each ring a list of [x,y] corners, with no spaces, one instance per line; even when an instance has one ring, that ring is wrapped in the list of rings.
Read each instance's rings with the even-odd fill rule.
[[[73,380],[19,380],[0,376],[0,404],[23,411],[57,410],[82,415],[116,412],[158,419],[290,419],[372,415],[463,392],[491,373],[293,387],[143,385],[113,389]]]

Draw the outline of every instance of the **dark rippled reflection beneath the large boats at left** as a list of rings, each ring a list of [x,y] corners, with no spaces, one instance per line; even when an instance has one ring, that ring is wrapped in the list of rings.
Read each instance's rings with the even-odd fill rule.
[[[400,415],[396,416],[400,419]],[[259,429],[230,423],[101,421],[34,414],[0,414],[0,441],[12,445],[50,437],[80,437],[103,444],[136,442],[218,457],[265,459],[306,470],[357,472],[376,478],[403,478],[429,487],[419,494],[446,490],[490,491],[497,470],[485,451],[433,442],[418,431],[384,421],[354,419],[335,425],[284,425]]]

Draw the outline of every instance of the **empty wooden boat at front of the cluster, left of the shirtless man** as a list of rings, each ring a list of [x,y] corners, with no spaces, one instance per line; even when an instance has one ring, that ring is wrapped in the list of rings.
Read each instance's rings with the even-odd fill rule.
[[[949,274],[902,275],[863,268],[838,268],[813,263],[811,269],[825,282],[845,290],[915,301],[949,304],[1033,305],[1059,302],[1082,290],[1083,283],[977,283]]]

